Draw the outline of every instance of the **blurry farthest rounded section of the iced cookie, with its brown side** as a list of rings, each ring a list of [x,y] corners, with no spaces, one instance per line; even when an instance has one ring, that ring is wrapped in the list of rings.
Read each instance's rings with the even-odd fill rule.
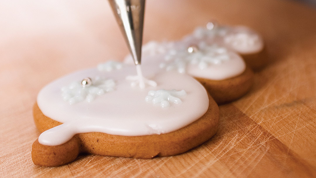
[[[262,37],[246,26],[224,26],[216,22],[197,28],[186,36],[186,43],[206,42],[217,44],[241,55],[247,66],[253,70],[261,69],[267,63],[267,52]]]

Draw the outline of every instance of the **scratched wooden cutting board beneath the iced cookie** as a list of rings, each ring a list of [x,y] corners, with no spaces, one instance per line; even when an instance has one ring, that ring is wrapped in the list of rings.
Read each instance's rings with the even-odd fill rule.
[[[0,43],[1,178],[316,177],[316,9],[285,0],[147,1],[144,42],[180,39],[210,19],[246,25],[264,37],[268,64],[256,71],[245,97],[219,107],[219,130],[208,142],[166,158],[82,155],[56,168],[33,165],[31,145],[40,132],[32,106],[39,90],[128,53],[107,2],[82,2],[77,14],[104,9],[82,18],[82,29],[12,38],[0,31],[7,39]]]

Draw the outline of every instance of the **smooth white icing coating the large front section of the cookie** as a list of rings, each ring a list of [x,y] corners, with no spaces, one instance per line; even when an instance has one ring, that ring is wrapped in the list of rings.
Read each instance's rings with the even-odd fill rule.
[[[157,86],[144,89],[131,87],[126,75],[136,75],[135,65],[124,65],[121,70],[101,72],[82,70],[64,76],[45,86],[38,94],[37,103],[47,117],[64,123],[43,132],[39,142],[44,145],[60,145],[77,133],[103,132],[112,135],[142,136],[176,131],[203,116],[208,107],[208,94],[204,87],[188,75],[177,72],[158,71],[155,67],[143,66],[144,77],[157,82]],[[93,102],[69,104],[62,98],[62,86],[90,76],[112,79],[115,90],[98,95]],[[144,100],[153,90],[185,90],[182,103],[172,103],[168,108],[150,104]],[[176,100],[173,100],[176,102]]]

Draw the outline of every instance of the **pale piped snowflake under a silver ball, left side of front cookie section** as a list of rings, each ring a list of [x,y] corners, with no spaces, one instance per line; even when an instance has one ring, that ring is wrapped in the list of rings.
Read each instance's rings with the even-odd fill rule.
[[[112,92],[115,87],[115,82],[112,79],[104,79],[96,77],[88,86],[82,86],[82,82],[75,81],[69,86],[64,86],[62,91],[63,100],[69,104],[74,104],[86,100],[92,102],[98,95],[103,95],[106,92]]]

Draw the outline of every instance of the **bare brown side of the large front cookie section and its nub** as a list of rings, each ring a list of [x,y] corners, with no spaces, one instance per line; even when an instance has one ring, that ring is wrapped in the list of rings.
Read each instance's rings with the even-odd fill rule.
[[[184,153],[207,141],[216,133],[219,109],[210,95],[209,100],[209,108],[200,119],[184,128],[167,134],[117,136],[100,132],[80,133],[69,142],[56,147],[41,145],[38,141],[35,141],[32,147],[33,162],[36,165],[42,166],[67,164],[70,162],[69,160],[76,159],[74,155],[77,152],[72,151],[70,159],[65,156],[67,153],[66,150],[76,150],[76,144],[79,150],[78,153],[85,152],[103,156],[150,159],[155,156],[171,156]],[[33,113],[35,124],[40,131],[45,131],[61,124],[44,116],[37,104],[34,105]],[[62,150],[61,153],[57,156],[52,155],[58,149]],[[52,160],[54,161],[50,162],[48,158],[53,158]],[[46,162],[48,163],[46,164]]]

